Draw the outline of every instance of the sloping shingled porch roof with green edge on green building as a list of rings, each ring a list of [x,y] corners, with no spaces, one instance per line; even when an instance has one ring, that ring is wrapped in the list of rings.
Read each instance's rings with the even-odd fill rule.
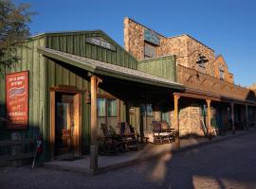
[[[122,67],[100,60],[92,60],[45,47],[38,47],[38,52],[42,53],[48,58],[64,61],[73,66],[87,70],[88,72],[91,72],[93,74],[116,77],[124,80],[131,80],[159,87],[185,90],[185,86],[182,84],[168,80],[163,77],[156,77],[135,69]]]

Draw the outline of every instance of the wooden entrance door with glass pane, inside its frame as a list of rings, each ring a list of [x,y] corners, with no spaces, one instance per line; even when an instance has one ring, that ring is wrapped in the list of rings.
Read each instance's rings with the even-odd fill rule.
[[[74,95],[56,93],[55,155],[74,154]]]

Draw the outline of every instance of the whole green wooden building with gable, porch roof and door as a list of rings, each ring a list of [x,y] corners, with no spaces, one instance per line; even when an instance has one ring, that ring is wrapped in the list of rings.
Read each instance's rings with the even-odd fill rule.
[[[154,119],[152,112],[170,111],[172,94],[184,90],[175,82],[174,56],[137,61],[101,30],[40,34],[27,39],[17,55],[18,62],[1,65],[0,139],[13,132],[23,139],[42,135],[44,162],[88,154],[101,123],[115,129],[127,121],[138,132],[149,129],[147,115]],[[23,71],[28,75],[27,109],[11,101],[16,93],[26,93],[11,88],[23,78],[15,73]],[[19,108],[25,118],[17,116]],[[9,125],[26,115],[27,122]]]

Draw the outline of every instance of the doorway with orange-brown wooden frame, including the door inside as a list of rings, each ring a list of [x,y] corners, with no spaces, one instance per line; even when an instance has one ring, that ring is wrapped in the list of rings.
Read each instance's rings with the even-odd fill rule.
[[[51,159],[82,156],[82,93],[54,88],[50,91]]]

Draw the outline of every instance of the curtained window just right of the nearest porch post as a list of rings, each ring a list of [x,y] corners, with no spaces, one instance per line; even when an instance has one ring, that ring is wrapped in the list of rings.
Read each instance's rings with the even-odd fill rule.
[[[116,99],[98,98],[97,101],[99,117],[118,116],[118,103]]]

